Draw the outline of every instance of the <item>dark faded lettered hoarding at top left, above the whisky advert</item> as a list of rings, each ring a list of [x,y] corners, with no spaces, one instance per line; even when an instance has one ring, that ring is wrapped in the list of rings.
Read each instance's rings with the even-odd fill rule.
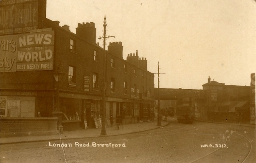
[[[0,1],[0,34],[29,32],[37,29],[38,0]]]

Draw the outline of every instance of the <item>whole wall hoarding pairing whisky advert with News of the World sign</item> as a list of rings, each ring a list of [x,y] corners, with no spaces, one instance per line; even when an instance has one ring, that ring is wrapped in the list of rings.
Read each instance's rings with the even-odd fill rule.
[[[0,72],[53,70],[54,31],[0,36]]]

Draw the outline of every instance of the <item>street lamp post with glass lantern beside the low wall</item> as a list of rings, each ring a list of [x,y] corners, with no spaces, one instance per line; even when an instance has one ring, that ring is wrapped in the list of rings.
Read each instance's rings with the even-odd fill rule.
[[[59,70],[59,67],[57,69],[58,70],[56,70],[53,73],[54,79],[56,81],[56,105],[55,105],[55,108],[54,108],[55,111],[52,112],[52,115],[53,115],[53,117],[59,118],[59,120],[58,120],[58,130],[59,130],[59,133],[62,134],[63,133],[63,126],[62,126],[62,114],[63,113],[59,109],[59,83],[62,80],[62,78],[64,76],[64,73],[62,73]]]

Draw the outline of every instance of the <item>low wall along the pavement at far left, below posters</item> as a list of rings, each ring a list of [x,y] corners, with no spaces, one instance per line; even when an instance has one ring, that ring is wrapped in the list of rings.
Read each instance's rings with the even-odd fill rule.
[[[0,137],[57,135],[58,118],[0,118]]]

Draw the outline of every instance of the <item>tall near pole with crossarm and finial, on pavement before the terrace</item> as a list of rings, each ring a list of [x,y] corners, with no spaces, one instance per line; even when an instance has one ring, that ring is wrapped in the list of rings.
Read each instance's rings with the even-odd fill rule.
[[[106,68],[106,39],[109,38],[109,37],[114,37],[114,36],[108,36],[106,37],[106,27],[107,27],[107,24],[106,24],[106,15],[104,17],[104,31],[103,31],[103,37],[100,37],[98,39],[103,39],[103,49],[104,49],[104,70],[103,70],[103,95],[102,95],[102,126],[101,126],[101,135],[107,135],[107,132],[106,132],[106,71],[107,71],[107,68]]]

